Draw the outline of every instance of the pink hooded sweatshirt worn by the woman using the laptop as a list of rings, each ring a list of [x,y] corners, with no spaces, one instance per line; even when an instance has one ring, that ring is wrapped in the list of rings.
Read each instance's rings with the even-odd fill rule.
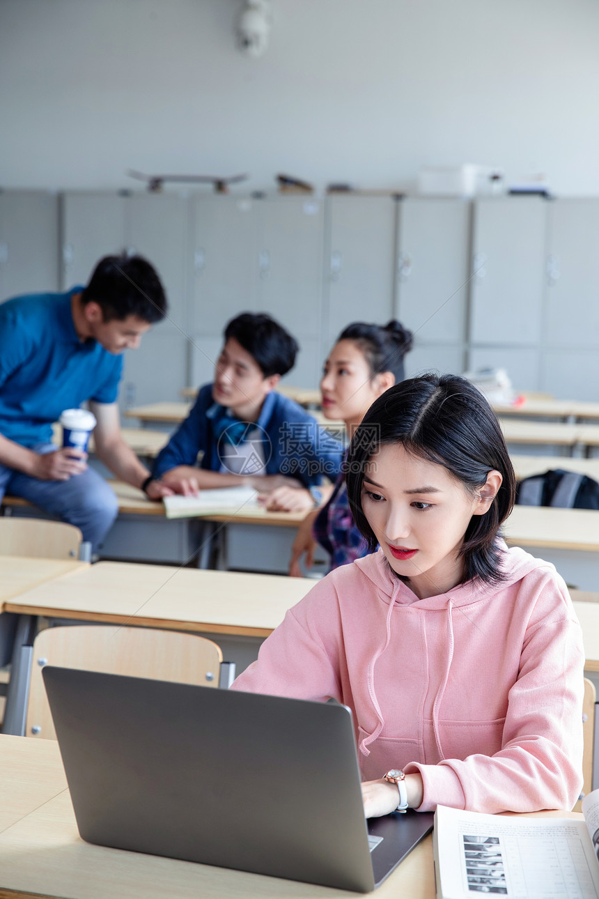
[[[349,706],[363,779],[418,770],[418,811],[570,809],[582,788],[580,625],[553,565],[507,547],[503,565],[499,587],[426,600],[382,550],[342,565],[233,690]]]

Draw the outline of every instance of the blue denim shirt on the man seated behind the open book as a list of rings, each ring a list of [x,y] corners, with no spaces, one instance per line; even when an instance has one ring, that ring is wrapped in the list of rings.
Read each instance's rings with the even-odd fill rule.
[[[154,477],[180,465],[197,465],[199,453],[203,454],[200,468],[221,471],[219,440],[223,437],[219,424],[223,419],[231,420],[229,410],[214,402],[212,384],[204,385],[188,417],[158,454]],[[301,405],[274,390],[266,396],[258,421],[247,430],[252,440],[260,440],[268,475],[295,477],[307,488],[321,484],[322,476],[334,481],[339,475],[343,458],[339,441]]]

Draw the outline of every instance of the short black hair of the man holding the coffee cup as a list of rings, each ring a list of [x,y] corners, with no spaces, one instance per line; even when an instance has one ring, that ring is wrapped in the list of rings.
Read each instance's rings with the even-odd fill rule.
[[[137,316],[154,325],[168,304],[158,273],[142,256],[104,256],[92,271],[81,302],[97,303],[105,322]]]

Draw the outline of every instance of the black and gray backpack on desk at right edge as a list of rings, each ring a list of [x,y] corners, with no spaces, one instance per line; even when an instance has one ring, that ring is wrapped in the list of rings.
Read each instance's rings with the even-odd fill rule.
[[[599,484],[577,471],[554,468],[544,475],[524,477],[516,485],[515,502],[558,509],[599,509]]]

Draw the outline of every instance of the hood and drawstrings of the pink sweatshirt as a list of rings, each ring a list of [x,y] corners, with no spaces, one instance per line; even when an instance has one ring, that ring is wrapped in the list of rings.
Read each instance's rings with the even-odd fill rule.
[[[553,568],[553,565],[551,565],[551,563],[543,562],[542,559],[534,558],[529,553],[524,552],[524,549],[521,549],[520,547],[511,547],[508,549],[504,541],[501,541],[500,546],[504,550],[504,552],[502,553],[502,570],[506,575],[506,580],[503,583],[500,583],[499,585],[491,585],[488,583],[481,583],[480,581],[468,581],[466,583],[458,584],[452,590],[448,590],[445,593],[440,593],[438,596],[429,596],[425,600],[419,600],[418,597],[413,592],[411,592],[410,588],[405,583],[403,583],[403,581],[401,581],[396,574],[394,574],[391,566],[388,564],[383,554],[382,549],[377,550],[377,552],[373,553],[371,556],[365,556],[364,558],[358,559],[356,562],[354,562],[354,565],[357,565],[362,574],[364,574],[366,578],[368,578],[368,580],[374,584],[374,587],[376,588],[376,591],[381,600],[389,604],[389,610],[386,615],[385,633],[381,635],[381,643],[374,653],[367,669],[368,693],[376,712],[376,717],[378,718],[378,724],[375,726],[374,731],[371,734],[366,734],[359,743],[358,749],[360,752],[362,752],[363,755],[370,754],[368,746],[370,745],[370,743],[374,743],[374,740],[376,740],[379,734],[381,734],[384,726],[383,714],[381,712],[381,707],[374,691],[374,668],[377,660],[384,653],[385,649],[390,643],[392,610],[396,604],[399,604],[413,605],[414,607],[421,610],[445,610],[445,621],[447,628],[447,652],[445,655],[445,671],[442,681],[439,685],[439,689],[436,693],[432,716],[437,752],[439,753],[439,758],[441,760],[445,759],[445,753],[443,752],[443,745],[441,743],[441,738],[439,735],[438,716],[441,701],[443,699],[447,681],[449,679],[449,672],[451,671],[451,666],[454,659],[454,609],[459,609],[463,606],[471,605],[474,602],[480,602],[481,600],[487,599],[492,594],[500,593],[502,592],[502,590],[505,590],[510,584],[522,580],[522,578],[526,574],[536,568]]]

